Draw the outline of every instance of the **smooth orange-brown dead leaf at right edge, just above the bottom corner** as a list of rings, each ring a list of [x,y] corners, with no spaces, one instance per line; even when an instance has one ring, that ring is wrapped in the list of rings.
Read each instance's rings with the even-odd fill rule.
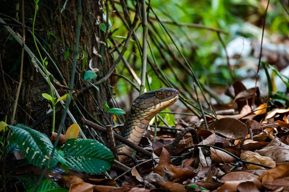
[[[263,175],[261,175],[258,179],[263,183],[265,181],[272,181],[275,179],[280,179],[289,174],[289,164],[279,165],[274,167],[273,169],[269,169]]]

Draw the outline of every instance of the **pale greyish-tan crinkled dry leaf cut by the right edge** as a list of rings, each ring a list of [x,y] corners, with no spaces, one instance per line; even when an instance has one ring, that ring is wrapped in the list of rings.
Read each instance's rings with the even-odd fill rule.
[[[265,148],[255,152],[270,157],[276,162],[289,160],[289,146],[276,139],[273,139]]]

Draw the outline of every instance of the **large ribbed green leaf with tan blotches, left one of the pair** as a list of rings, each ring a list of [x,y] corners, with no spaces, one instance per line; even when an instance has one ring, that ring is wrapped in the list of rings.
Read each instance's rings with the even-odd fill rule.
[[[18,147],[21,149],[28,162],[39,168],[46,165],[53,148],[49,138],[43,133],[33,130],[25,125],[9,125],[9,128],[12,129]],[[54,158],[50,162],[50,169],[57,164],[59,161],[58,159],[59,155],[57,151],[55,151]]]

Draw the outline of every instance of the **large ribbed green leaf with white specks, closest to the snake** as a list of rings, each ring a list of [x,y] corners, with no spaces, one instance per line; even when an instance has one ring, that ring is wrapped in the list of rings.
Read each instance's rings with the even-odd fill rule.
[[[112,152],[97,140],[68,139],[60,148],[65,165],[80,172],[101,173],[113,164]]]

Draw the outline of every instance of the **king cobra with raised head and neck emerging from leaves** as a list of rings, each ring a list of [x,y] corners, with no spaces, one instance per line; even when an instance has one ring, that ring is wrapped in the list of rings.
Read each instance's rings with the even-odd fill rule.
[[[162,88],[148,91],[138,96],[132,103],[128,119],[120,132],[120,135],[138,145],[150,120],[159,112],[174,104],[179,98],[179,91],[172,88]],[[134,151],[127,145],[120,144],[118,152],[132,154]],[[124,162],[127,156],[119,155],[120,162]]]

